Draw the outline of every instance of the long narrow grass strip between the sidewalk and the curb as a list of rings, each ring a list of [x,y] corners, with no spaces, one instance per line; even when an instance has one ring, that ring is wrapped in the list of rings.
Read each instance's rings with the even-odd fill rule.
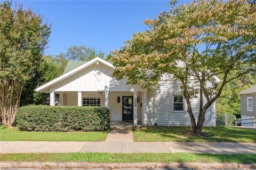
[[[255,154],[206,153],[9,153],[0,161],[89,161],[100,163],[132,162],[221,162],[256,163]]]

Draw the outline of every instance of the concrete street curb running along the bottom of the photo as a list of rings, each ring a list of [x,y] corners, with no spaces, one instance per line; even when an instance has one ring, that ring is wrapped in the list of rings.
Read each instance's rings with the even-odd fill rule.
[[[237,163],[89,163],[89,162],[6,162],[0,161],[0,168],[78,168],[78,167],[109,167],[109,168],[149,168],[149,167],[181,167],[181,168],[256,168],[256,164]]]

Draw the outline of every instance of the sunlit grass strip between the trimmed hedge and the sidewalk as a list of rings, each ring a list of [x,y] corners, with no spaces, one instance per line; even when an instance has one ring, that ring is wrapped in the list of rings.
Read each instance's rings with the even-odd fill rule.
[[[105,141],[108,132],[27,132],[0,129],[1,141]]]

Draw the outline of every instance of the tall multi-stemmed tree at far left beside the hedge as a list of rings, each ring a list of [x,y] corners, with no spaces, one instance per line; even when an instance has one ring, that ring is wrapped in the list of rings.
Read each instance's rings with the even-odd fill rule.
[[[0,108],[3,125],[11,127],[20,95],[35,69],[50,35],[42,17],[11,2],[0,3]]]

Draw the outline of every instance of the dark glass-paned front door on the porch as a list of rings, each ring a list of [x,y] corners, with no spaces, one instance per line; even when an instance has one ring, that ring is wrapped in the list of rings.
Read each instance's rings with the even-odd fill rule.
[[[133,97],[123,96],[123,121],[133,120]]]

